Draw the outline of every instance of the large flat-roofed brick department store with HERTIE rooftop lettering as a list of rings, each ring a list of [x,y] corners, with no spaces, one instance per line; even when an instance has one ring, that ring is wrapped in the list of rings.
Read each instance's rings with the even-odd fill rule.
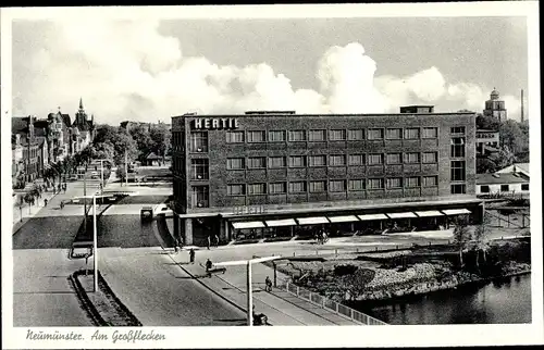
[[[172,117],[174,232],[267,238],[316,225],[428,227],[480,220],[475,115],[246,112]]]

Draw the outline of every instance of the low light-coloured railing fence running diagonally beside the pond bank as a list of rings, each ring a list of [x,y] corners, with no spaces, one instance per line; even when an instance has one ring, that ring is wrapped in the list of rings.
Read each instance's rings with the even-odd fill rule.
[[[321,307],[325,310],[332,311],[339,315],[343,315],[351,321],[367,325],[367,326],[382,326],[387,325],[385,322],[363,314],[357,310],[348,308],[339,302],[331,300],[321,296],[320,293],[309,291],[302,287],[299,287],[293,283],[285,282],[285,284],[279,285],[279,288],[285,289],[287,292],[297,296],[300,299],[307,300],[314,305]]]

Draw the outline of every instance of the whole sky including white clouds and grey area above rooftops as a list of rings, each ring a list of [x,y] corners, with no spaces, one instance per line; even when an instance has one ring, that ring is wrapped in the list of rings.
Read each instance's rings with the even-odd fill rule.
[[[73,117],[79,98],[111,125],[248,110],[481,112],[496,88],[519,120],[528,92],[524,17],[70,16],[16,20],[12,43],[14,116]]]

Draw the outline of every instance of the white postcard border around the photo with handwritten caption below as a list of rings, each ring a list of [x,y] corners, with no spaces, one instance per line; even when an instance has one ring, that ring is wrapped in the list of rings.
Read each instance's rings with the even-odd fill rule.
[[[540,41],[539,3],[536,1],[472,3],[395,3],[395,4],[322,4],[259,7],[145,7],[145,8],[41,8],[1,10],[1,111],[2,111],[2,187],[11,189],[11,123],[4,112],[11,111],[11,23],[13,20],[47,20],[99,14],[102,17],[156,18],[307,18],[307,17],[412,17],[412,16],[527,16],[529,108],[531,121],[531,199],[532,199],[532,308],[531,325],[445,325],[388,327],[157,327],[154,333],[166,341],[112,343],[89,341],[28,341],[27,328],[13,328],[11,221],[2,221],[2,340],[4,348],[263,348],[263,347],[417,347],[417,346],[494,346],[544,342],[542,296],[542,215],[541,215],[541,135],[540,135]],[[2,191],[2,217],[12,217],[11,190]],[[39,330],[45,328],[32,328]],[[86,337],[96,328],[47,328],[79,332]],[[104,334],[120,328],[100,328]],[[141,329],[141,328],[140,328]],[[151,328],[144,328],[150,330]],[[128,330],[123,328],[122,330]],[[250,333],[249,333],[250,330]]]

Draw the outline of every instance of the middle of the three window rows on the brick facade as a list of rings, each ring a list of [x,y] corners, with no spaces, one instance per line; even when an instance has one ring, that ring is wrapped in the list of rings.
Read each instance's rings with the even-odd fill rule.
[[[268,167],[307,167],[307,166],[345,166],[345,165],[382,165],[386,164],[415,164],[437,163],[438,152],[407,152],[407,153],[371,153],[371,154],[330,154],[319,155],[289,155],[269,157]],[[267,157],[228,158],[227,170],[265,168]]]

